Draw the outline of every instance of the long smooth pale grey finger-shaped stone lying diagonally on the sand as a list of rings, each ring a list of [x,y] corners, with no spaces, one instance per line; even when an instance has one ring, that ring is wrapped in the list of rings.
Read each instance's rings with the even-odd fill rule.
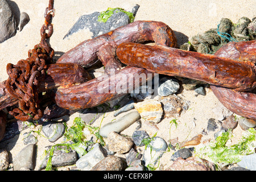
[[[128,113],[124,115],[122,118],[117,119],[117,121],[110,122],[100,128],[99,134],[101,137],[108,137],[108,134],[112,131],[117,133],[125,130],[127,127],[138,121],[141,116],[137,111]]]

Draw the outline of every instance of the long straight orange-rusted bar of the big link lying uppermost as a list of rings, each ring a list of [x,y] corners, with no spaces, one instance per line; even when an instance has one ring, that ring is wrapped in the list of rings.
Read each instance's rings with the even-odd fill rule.
[[[256,86],[254,64],[249,61],[137,43],[122,43],[116,53],[124,64],[164,75],[192,78],[240,91],[253,90]]]

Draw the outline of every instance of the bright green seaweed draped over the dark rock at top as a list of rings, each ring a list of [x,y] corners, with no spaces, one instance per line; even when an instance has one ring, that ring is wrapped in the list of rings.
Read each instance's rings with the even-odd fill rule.
[[[117,10],[117,11],[115,11]],[[122,8],[119,7],[115,7],[115,8],[111,8],[109,7],[106,11],[102,11],[101,14],[98,16],[98,21],[99,22],[104,22],[106,23],[106,21],[114,14],[114,13],[118,13],[118,12],[122,12],[125,13],[129,19],[130,19],[130,23],[134,22],[134,15],[133,13],[129,12],[129,11],[125,11]]]

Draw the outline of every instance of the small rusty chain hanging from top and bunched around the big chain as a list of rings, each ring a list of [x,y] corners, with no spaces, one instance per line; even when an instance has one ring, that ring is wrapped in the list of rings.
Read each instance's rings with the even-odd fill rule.
[[[18,108],[9,111],[16,119],[28,121],[43,117],[43,109],[39,106],[40,97],[37,86],[46,76],[47,64],[52,63],[54,50],[49,45],[49,38],[53,33],[52,17],[54,16],[53,0],[44,14],[44,24],[40,30],[41,41],[28,51],[26,60],[19,60],[16,65],[7,64],[6,89],[18,98]],[[48,30],[48,33],[46,32]]]

